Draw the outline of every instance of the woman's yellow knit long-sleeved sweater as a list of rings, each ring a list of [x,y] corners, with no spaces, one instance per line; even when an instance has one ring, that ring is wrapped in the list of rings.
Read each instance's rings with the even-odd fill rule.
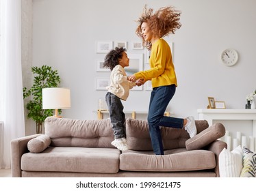
[[[145,80],[151,80],[153,88],[172,84],[177,86],[175,66],[172,63],[170,46],[164,39],[160,38],[152,44],[149,64],[151,67],[150,70],[134,74],[137,79],[144,78]]]

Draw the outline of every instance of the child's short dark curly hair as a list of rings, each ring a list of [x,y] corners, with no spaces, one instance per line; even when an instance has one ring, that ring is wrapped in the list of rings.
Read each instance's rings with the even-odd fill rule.
[[[105,56],[105,61],[103,63],[104,68],[110,68],[112,71],[113,68],[119,64],[118,59],[122,59],[123,57],[123,52],[125,52],[126,49],[123,47],[116,47],[114,50],[110,50],[110,53],[108,53]]]

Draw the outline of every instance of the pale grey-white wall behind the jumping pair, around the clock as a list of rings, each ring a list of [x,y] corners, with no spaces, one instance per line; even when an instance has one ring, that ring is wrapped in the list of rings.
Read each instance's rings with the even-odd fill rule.
[[[168,109],[177,117],[206,108],[207,97],[225,101],[227,108],[244,108],[245,98],[255,87],[256,1],[254,0],[40,0],[33,1],[33,65],[51,65],[59,71],[62,87],[71,88],[72,108],[63,111],[72,119],[96,119],[99,98],[95,90],[96,42],[125,40],[129,53],[136,20],[144,4],[157,10],[173,5],[181,10],[182,27],[167,40],[173,44],[178,85]],[[222,64],[220,54],[235,48],[239,62]],[[129,56],[129,55],[128,55]],[[28,69],[29,70],[29,69]],[[150,91],[131,91],[126,111],[147,111]],[[27,127],[28,128],[28,127]],[[34,127],[31,127],[34,128]]]

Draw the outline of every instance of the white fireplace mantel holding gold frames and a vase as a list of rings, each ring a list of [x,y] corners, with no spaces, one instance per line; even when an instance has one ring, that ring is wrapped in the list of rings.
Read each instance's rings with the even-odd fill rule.
[[[251,120],[253,135],[256,137],[256,109],[198,109],[199,119],[208,121],[212,126],[214,120]]]

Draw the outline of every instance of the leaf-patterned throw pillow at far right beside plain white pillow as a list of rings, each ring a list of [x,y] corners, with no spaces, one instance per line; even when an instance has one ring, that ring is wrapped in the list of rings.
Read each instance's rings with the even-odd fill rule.
[[[256,177],[256,153],[243,147],[243,168],[240,177]]]

